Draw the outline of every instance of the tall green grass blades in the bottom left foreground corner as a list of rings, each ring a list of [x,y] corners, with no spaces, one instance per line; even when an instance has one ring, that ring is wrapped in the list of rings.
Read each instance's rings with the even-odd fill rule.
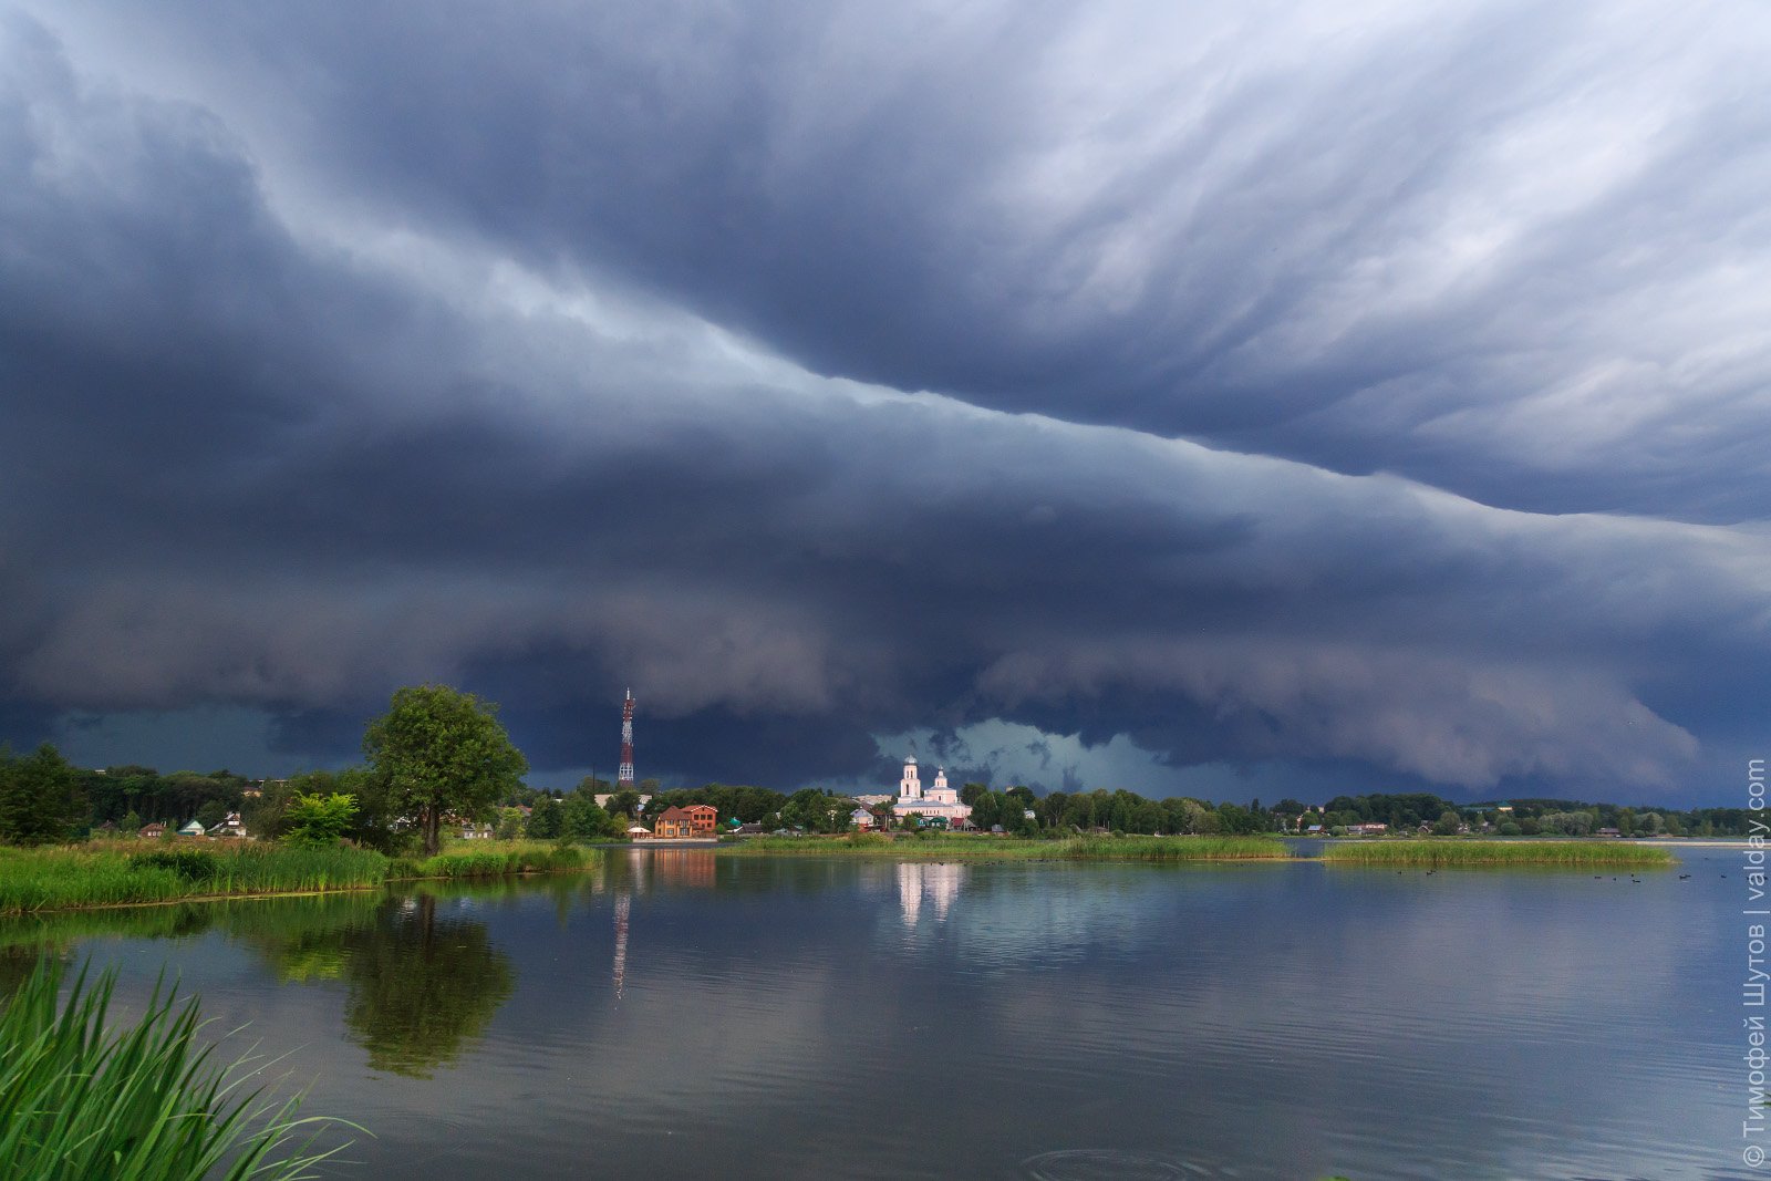
[[[198,1046],[197,1002],[156,986],[147,1013],[106,1030],[115,976],[74,977],[57,1004],[62,972],[39,960],[0,1009],[0,1162],[32,1181],[197,1181],[198,1177],[313,1177],[315,1151],[344,1121],[298,1117],[301,1096],[278,1103],[244,1091],[248,1059],[227,1066]],[[360,1130],[360,1128],[358,1128]]]

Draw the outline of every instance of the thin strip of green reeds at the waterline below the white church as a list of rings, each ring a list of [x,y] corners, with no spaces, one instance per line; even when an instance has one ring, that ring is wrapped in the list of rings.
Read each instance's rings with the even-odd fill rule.
[[[999,836],[901,836],[857,832],[845,838],[758,836],[724,843],[721,853],[878,857],[933,861],[1282,861],[1284,841],[1263,836],[1077,836],[1056,841]]]

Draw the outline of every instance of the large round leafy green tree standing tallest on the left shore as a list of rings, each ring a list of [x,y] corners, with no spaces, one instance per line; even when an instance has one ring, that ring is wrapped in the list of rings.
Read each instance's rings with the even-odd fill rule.
[[[448,685],[407,685],[368,724],[363,754],[395,811],[416,813],[425,853],[441,845],[445,813],[480,818],[530,768],[498,724],[498,706]]]

